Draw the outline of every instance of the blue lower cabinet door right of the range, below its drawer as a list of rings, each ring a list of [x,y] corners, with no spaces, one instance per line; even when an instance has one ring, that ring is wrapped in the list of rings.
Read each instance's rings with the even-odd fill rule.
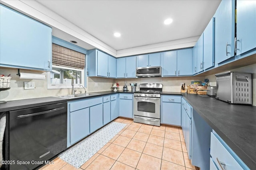
[[[180,103],[162,102],[162,123],[170,125],[181,125]]]

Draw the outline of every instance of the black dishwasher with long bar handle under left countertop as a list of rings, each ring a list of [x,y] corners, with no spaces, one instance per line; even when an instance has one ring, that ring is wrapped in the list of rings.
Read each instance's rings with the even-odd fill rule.
[[[67,103],[10,111],[9,116],[8,160],[15,161],[10,170],[34,169],[67,149]]]

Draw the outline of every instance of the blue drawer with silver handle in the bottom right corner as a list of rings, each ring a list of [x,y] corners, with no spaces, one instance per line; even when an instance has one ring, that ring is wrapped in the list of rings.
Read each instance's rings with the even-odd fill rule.
[[[213,162],[218,166],[218,169],[222,169],[225,166],[225,170],[242,170],[243,168],[238,164],[230,152],[220,143],[219,139],[211,132],[211,147],[210,154]],[[218,159],[218,160],[217,160]],[[219,161],[219,162],[218,162]],[[223,165],[225,164],[225,165]]]

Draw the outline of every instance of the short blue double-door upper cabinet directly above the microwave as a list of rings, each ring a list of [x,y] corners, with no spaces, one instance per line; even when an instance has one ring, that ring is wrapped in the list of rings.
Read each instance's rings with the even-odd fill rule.
[[[137,67],[160,66],[161,53],[137,56]]]

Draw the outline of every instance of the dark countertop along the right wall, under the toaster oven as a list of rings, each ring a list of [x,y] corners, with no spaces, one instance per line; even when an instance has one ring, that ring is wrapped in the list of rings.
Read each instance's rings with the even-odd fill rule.
[[[186,101],[250,168],[256,169],[256,107],[184,93]]]

